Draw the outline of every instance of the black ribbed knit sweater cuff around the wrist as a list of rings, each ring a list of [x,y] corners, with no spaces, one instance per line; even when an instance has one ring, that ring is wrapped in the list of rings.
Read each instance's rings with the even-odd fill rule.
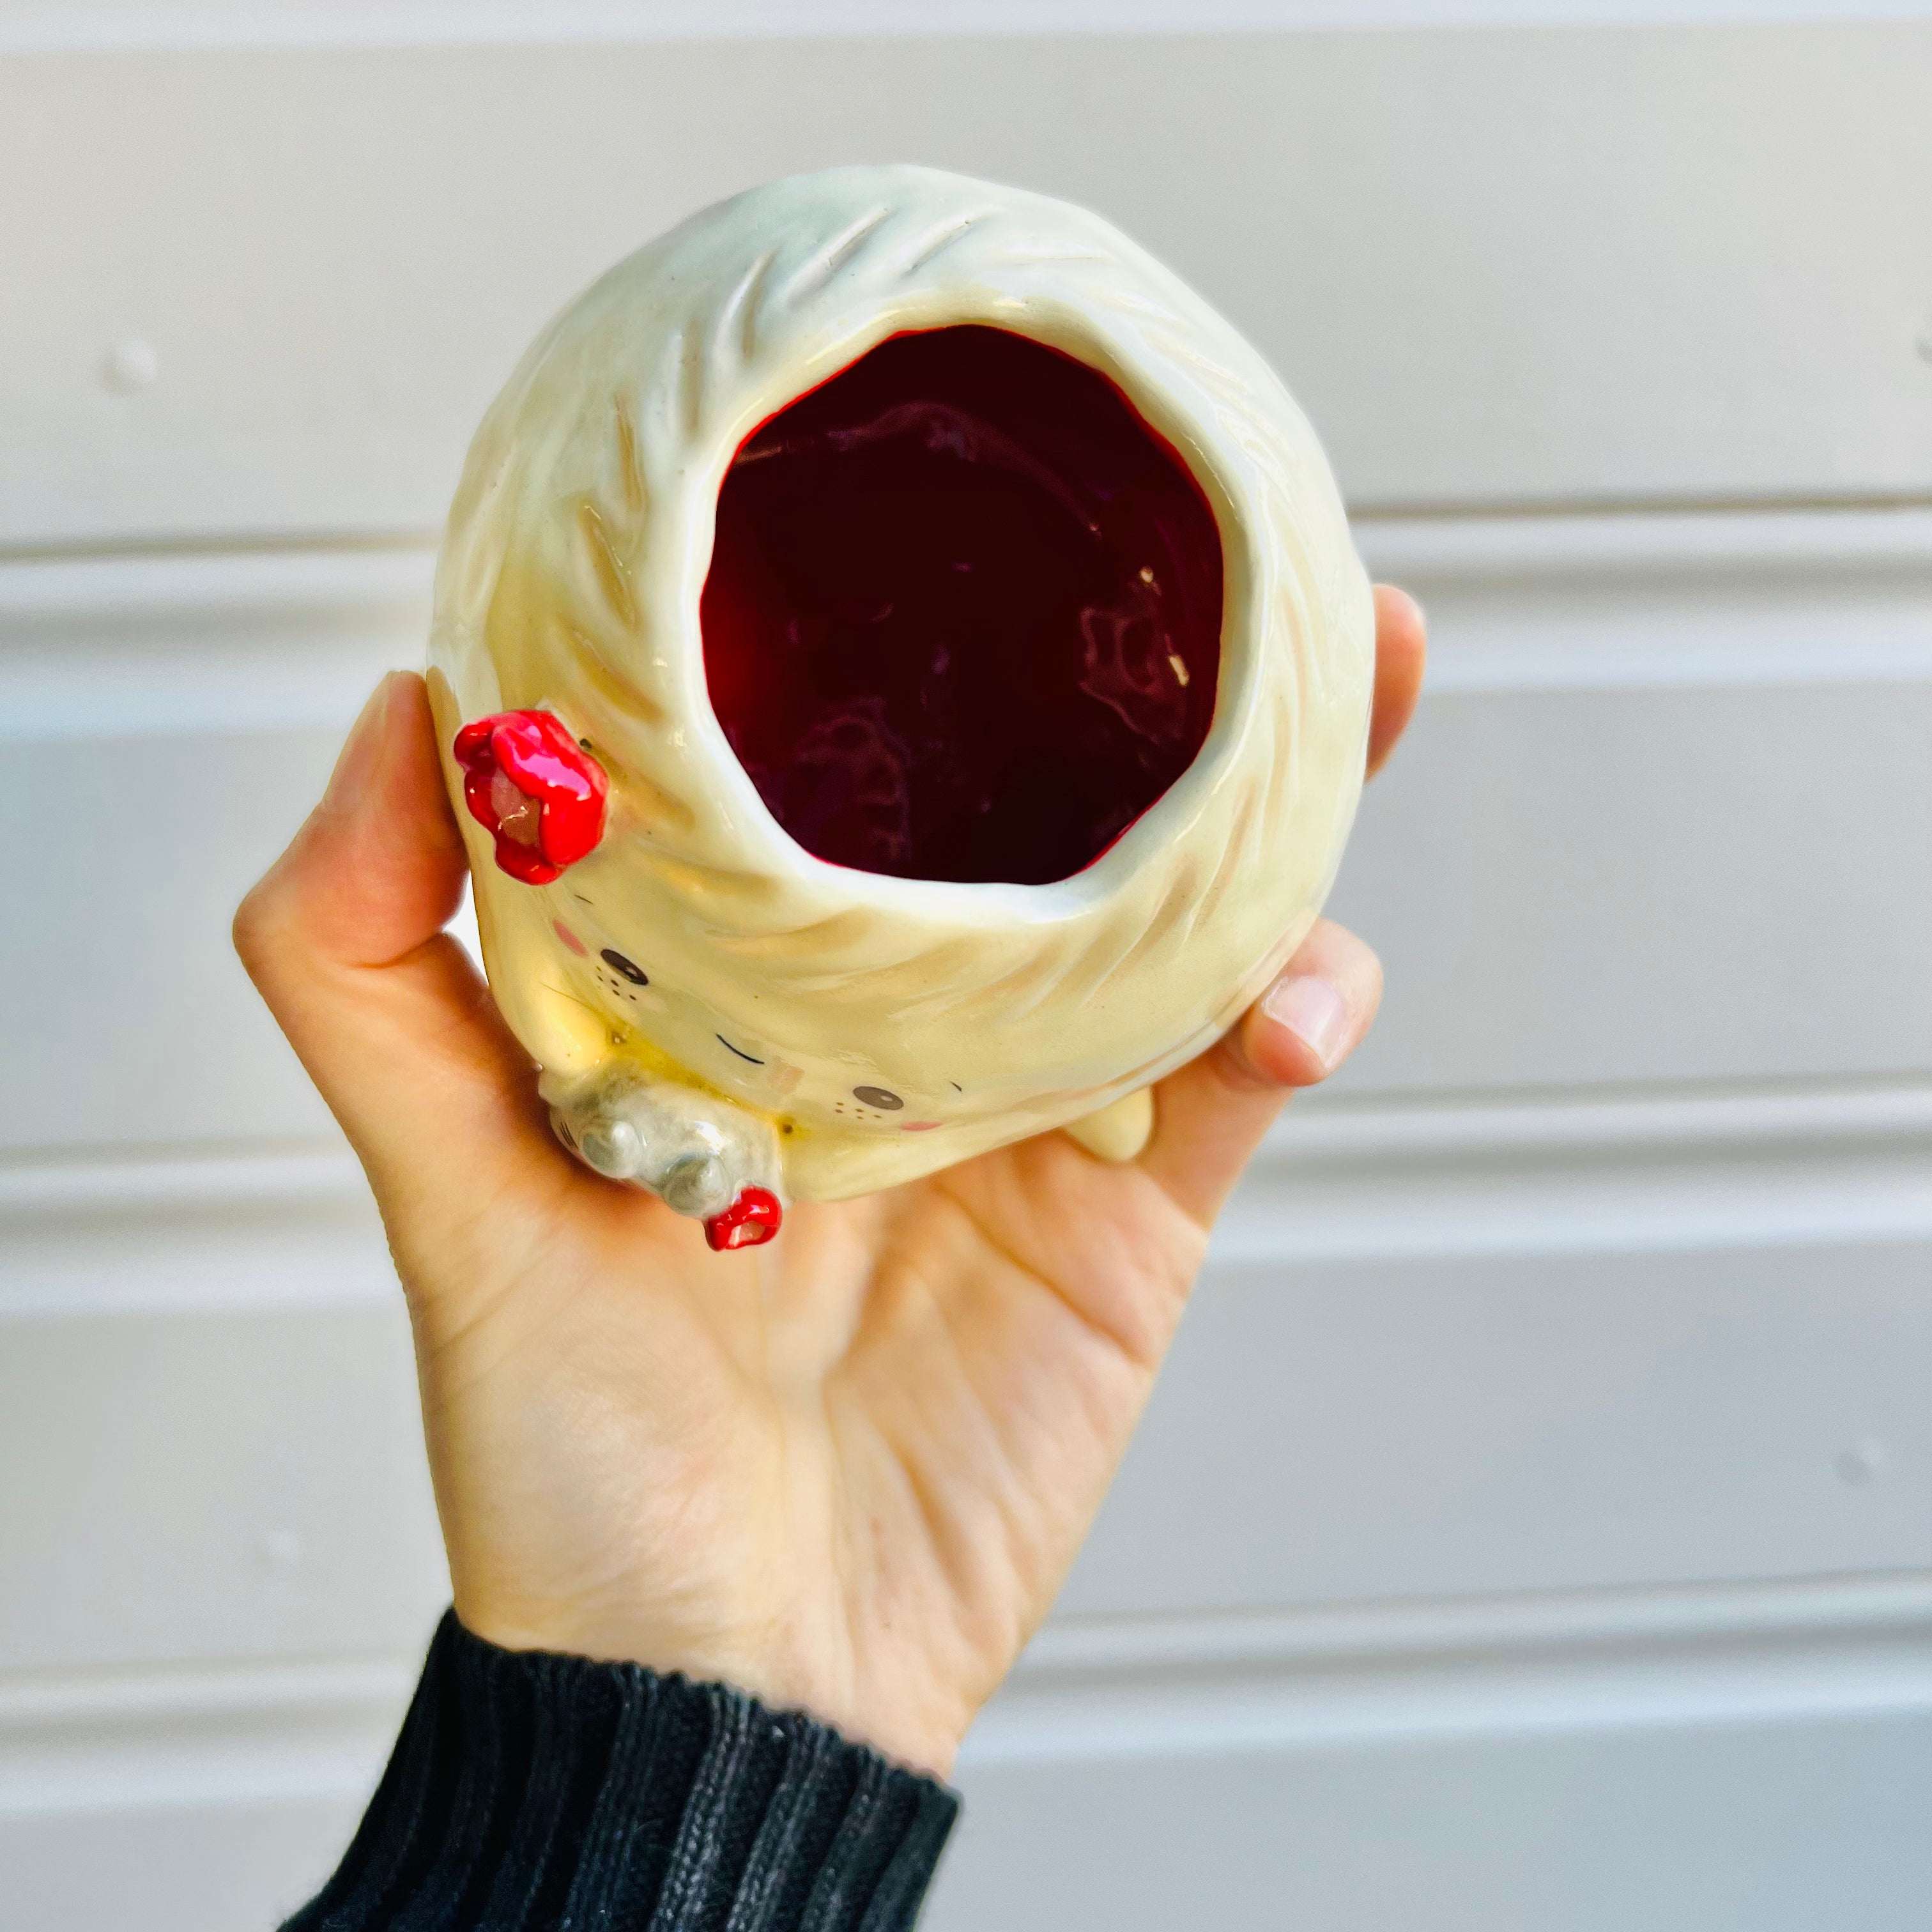
[[[800,1712],[498,1650],[450,1611],[342,1868],[284,1932],[902,1932],[956,1816]]]

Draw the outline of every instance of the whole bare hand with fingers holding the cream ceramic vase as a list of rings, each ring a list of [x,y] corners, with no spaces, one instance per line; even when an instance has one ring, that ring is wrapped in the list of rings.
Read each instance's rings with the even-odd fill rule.
[[[1414,709],[1376,593],[1368,769]],[[375,1188],[415,1329],[456,1613],[800,1706],[945,1774],[1099,1509],[1208,1231],[1381,968],[1320,923],[1113,1165],[1041,1134],[711,1254],[551,1136],[442,927],[466,875],[421,678],[369,699],[236,947]]]

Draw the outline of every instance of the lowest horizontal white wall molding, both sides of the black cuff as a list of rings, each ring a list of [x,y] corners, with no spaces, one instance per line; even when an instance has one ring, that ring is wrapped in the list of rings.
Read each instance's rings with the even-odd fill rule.
[[[417,1658],[0,1677],[0,1818],[365,1789]],[[1932,1712],[1932,1573],[1049,1623],[1014,1762]]]

